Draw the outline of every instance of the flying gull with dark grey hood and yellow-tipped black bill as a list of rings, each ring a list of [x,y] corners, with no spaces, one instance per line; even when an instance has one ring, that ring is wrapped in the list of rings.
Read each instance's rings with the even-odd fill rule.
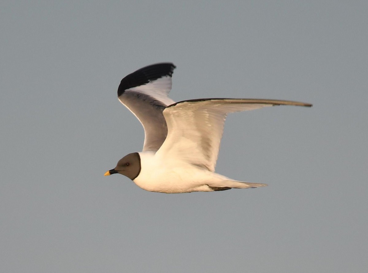
[[[190,99],[168,97],[175,65],[158,63],[123,78],[117,95],[141,122],[142,152],[130,153],[105,175],[123,174],[142,189],[182,193],[258,188],[215,173],[227,114],[275,105],[311,107],[312,104],[270,99]]]

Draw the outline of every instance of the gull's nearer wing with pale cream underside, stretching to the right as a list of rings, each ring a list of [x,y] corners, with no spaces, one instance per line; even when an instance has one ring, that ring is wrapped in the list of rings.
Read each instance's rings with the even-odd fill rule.
[[[312,106],[266,99],[194,99],[171,104],[163,111],[168,135],[156,155],[215,171],[227,114],[274,105]]]

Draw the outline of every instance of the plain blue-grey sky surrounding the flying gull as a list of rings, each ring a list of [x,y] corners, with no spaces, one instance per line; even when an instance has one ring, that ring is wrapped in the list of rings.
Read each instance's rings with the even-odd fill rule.
[[[367,1],[2,1],[1,272],[367,272]],[[172,99],[231,114],[216,171],[161,194],[104,177],[142,149],[117,99],[171,61]]]

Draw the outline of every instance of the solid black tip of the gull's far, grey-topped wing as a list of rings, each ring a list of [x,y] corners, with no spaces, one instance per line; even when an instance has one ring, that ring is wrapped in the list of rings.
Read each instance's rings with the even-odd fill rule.
[[[175,68],[173,63],[156,63],[139,68],[121,80],[117,96],[123,94],[126,89],[148,84],[150,81],[165,76],[172,77]]]

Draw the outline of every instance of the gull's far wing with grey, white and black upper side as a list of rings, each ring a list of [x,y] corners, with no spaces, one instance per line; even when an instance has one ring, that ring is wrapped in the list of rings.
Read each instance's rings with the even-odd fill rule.
[[[162,111],[174,103],[167,95],[175,65],[158,63],[143,67],[126,77],[119,85],[117,95],[142,123],[145,133],[143,151],[157,151],[167,135]]]

